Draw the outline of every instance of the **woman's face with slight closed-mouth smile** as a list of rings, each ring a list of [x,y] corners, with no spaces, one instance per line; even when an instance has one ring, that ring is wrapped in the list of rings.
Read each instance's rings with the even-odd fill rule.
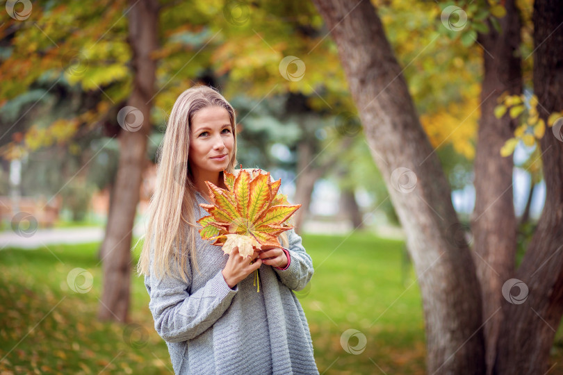
[[[190,168],[195,176],[227,169],[233,156],[233,147],[233,129],[225,108],[213,106],[195,113],[188,151]]]

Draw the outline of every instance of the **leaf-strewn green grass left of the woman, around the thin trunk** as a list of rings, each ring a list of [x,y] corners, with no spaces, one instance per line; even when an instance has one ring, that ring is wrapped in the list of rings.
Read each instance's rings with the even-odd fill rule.
[[[168,349],[153,328],[148,295],[133,278],[129,325],[96,319],[101,294],[98,244],[0,252],[1,374],[167,374]],[[69,288],[81,267],[92,289]],[[76,278],[83,285],[85,278]],[[136,325],[138,324],[138,325]],[[170,367],[170,371],[166,367]]]

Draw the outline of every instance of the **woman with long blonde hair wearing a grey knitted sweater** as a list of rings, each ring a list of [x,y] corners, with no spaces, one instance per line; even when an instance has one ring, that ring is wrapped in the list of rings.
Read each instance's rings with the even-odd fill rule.
[[[226,188],[236,174],[236,120],[221,94],[206,86],[174,103],[159,150],[156,190],[138,264],[149,309],[176,374],[318,374],[307,319],[291,290],[313,275],[293,229],[284,249],[243,258],[199,236],[196,221],[211,201],[204,181]],[[260,291],[253,272],[258,269]]]

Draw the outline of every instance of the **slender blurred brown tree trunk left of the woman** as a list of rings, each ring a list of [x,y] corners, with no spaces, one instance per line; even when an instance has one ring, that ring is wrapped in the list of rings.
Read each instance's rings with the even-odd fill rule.
[[[142,169],[146,163],[147,136],[150,133],[150,109],[154,95],[156,61],[151,53],[157,47],[158,2],[130,1],[129,44],[133,51],[133,92],[128,106],[140,110],[140,128],[120,133],[120,160],[115,181],[115,204],[111,206],[111,227],[104,250],[104,292],[98,318],[127,322],[129,313],[129,285],[131,283],[131,237],[139,201]],[[131,115],[124,121],[133,122]],[[130,131],[131,130],[131,131]]]

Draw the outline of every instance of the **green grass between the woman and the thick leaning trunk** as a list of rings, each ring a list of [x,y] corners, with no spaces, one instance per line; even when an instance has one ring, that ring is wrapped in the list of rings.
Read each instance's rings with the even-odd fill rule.
[[[423,374],[424,324],[421,297],[403,243],[366,233],[307,235],[315,274],[300,301],[309,321],[316,362],[329,374]],[[341,346],[355,329],[366,336],[357,355]],[[350,338],[355,347],[357,338]]]

